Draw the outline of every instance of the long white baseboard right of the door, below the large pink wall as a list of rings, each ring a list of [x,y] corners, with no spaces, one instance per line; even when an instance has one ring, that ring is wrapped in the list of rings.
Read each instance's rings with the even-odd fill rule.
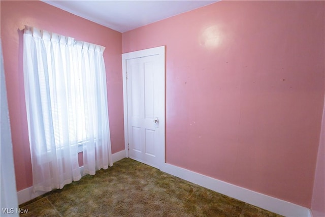
[[[278,198],[270,197],[237,185],[220,181],[209,176],[186,170],[171,164],[164,164],[161,171],[177,176],[189,182],[201,185],[212,191],[236,198],[251,205],[278,213],[284,216],[312,217],[311,210]]]

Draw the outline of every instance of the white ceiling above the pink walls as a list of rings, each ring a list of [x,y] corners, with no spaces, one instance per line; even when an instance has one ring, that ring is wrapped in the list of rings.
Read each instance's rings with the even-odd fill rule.
[[[47,1],[43,2],[120,33],[200,8],[219,0],[201,1]]]

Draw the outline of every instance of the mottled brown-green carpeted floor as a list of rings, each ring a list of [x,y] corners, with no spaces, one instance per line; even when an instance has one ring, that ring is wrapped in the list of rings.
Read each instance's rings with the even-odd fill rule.
[[[19,206],[21,216],[280,216],[131,159]]]

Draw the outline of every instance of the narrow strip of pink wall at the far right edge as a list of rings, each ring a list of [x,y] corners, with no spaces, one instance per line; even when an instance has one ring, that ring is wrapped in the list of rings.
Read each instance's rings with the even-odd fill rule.
[[[325,103],[321,123],[311,210],[315,217],[325,216]]]

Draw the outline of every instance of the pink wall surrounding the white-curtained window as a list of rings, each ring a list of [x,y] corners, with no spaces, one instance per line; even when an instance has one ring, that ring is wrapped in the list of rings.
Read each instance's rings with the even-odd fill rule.
[[[8,103],[11,120],[17,191],[32,185],[22,71],[22,29],[35,26],[106,47],[104,59],[112,152],[124,149],[121,33],[95,24],[40,1],[1,1],[3,43]],[[82,161],[82,159],[80,159]]]

